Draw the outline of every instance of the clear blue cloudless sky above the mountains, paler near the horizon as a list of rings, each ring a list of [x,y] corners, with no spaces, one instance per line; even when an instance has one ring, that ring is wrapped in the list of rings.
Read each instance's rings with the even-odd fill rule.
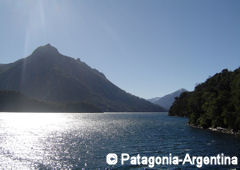
[[[0,63],[50,43],[143,98],[240,66],[239,0],[0,0]]]

